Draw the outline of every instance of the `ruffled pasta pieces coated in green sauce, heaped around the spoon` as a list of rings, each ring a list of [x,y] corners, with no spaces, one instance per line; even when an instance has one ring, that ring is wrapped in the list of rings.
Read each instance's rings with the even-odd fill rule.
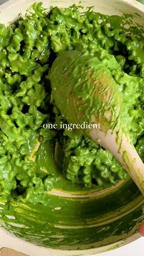
[[[46,74],[57,54],[68,49],[99,55],[123,92],[125,121],[132,142],[143,156],[142,39],[129,35],[132,28],[122,28],[122,18],[121,24],[113,26],[115,17],[92,9],[82,15],[74,5],[51,8],[49,14],[41,4],[33,9],[34,13],[27,13],[9,27],[1,24],[1,196],[32,201],[35,195],[37,202],[59,175],[87,188],[106,188],[127,179],[116,159],[99,145],[73,131],[43,129],[44,123],[63,121],[51,104]],[[41,152],[46,144],[54,151],[53,166],[48,164],[52,157],[49,150],[45,158]]]

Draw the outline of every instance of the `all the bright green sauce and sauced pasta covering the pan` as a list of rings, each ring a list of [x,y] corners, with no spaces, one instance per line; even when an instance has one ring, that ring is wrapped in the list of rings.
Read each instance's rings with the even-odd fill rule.
[[[70,249],[82,249],[81,244],[92,247],[95,238],[101,241],[101,232],[109,237],[115,229],[117,235],[125,237],[135,225],[133,219],[141,214],[139,205],[130,222],[124,217],[122,221],[129,222],[129,227],[123,224],[119,233],[114,224],[106,233],[104,224],[97,231],[93,228],[101,218],[105,223],[109,216],[104,215],[106,209],[111,207],[111,214],[114,211],[117,218],[120,202],[124,205],[139,196],[133,183],[134,194],[127,185],[122,189],[123,194],[128,192],[124,202],[118,191],[103,202],[95,197],[74,200],[51,195],[55,189],[55,194],[59,190],[87,196],[120,180],[128,180],[128,184],[132,181],[112,154],[98,144],[73,130],[43,128],[45,123],[65,122],[52,104],[48,76],[57,55],[72,49],[93,56],[99,53],[99,60],[109,67],[123,93],[124,122],[144,160],[143,29],[129,24],[128,15],[106,16],[75,5],[48,11],[40,3],[10,26],[0,24],[0,218],[9,230],[14,229],[10,222],[26,225],[23,231],[15,227],[15,234],[32,243],[50,247],[60,244],[62,249],[67,244]],[[134,202],[136,205],[137,200]],[[7,215],[14,215],[15,220],[7,219]],[[67,229],[70,223],[85,228]],[[43,232],[48,240],[43,240]]]

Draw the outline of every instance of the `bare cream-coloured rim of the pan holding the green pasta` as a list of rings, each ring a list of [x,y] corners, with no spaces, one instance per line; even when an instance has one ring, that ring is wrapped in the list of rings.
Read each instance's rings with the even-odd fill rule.
[[[10,21],[18,18],[18,14],[25,13],[26,9],[34,2],[40,2],[40,0],[10,0],[0,7],[0,23],[9,24]],[[71,4],[79,4],[77,0],[43,0],[44,7],[49,7],[49,5],[68,7]],[[134,15],[134,21],[139,24],[143,24],[144,18],[144,6],[137,1],[121,1],[121,0],[90,0],[81,1],[83,6],[95,6],[96,12],[104,13],[107,15],[121,15],[122,13],[132,13]],[[137,13],[137,15],[135,15]],[[87,249],[81,251],[63,251],[56,249],[46,249],[44,247],[38,247],[33,244],[27,243],[23,240],[19,240],[12,236],[10,233],[5,233],[2,229],[0,230],[0,235],[3,234],[3,240],[0,242],[0,247],[11,247],[18,251],[24,252],[30,255],[88,255],[88,254],[98,254],[101,252],[109,251],[116,247],[120,247],[124,244],[128,244],[131,241],[139,238],[139,234],[135,233],[129,236],[125,240],[118,241],[117,243],[110,243],[107,246],[102,246],[94,249]]]

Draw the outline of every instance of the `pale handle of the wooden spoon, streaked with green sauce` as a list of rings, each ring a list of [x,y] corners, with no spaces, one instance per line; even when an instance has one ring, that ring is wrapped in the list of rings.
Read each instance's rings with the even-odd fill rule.
[[[104,134],[94,129],[90,130],[90,137],[118,159],[144,196],[144,164],[129,137],[121,134],[118,139],[117,134],[110,130]]]

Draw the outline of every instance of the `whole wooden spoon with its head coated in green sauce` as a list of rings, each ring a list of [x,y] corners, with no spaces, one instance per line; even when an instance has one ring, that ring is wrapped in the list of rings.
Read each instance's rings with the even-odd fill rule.
[[[129,138],[122,116],[123,95],[109,68],[98,57],[67,51],[52,64],[49,79],[52,101],[63,118],[79,126],[99,124],[100,128],[79,129],[79,133],[107,148],[144,195],[144,164]]]

